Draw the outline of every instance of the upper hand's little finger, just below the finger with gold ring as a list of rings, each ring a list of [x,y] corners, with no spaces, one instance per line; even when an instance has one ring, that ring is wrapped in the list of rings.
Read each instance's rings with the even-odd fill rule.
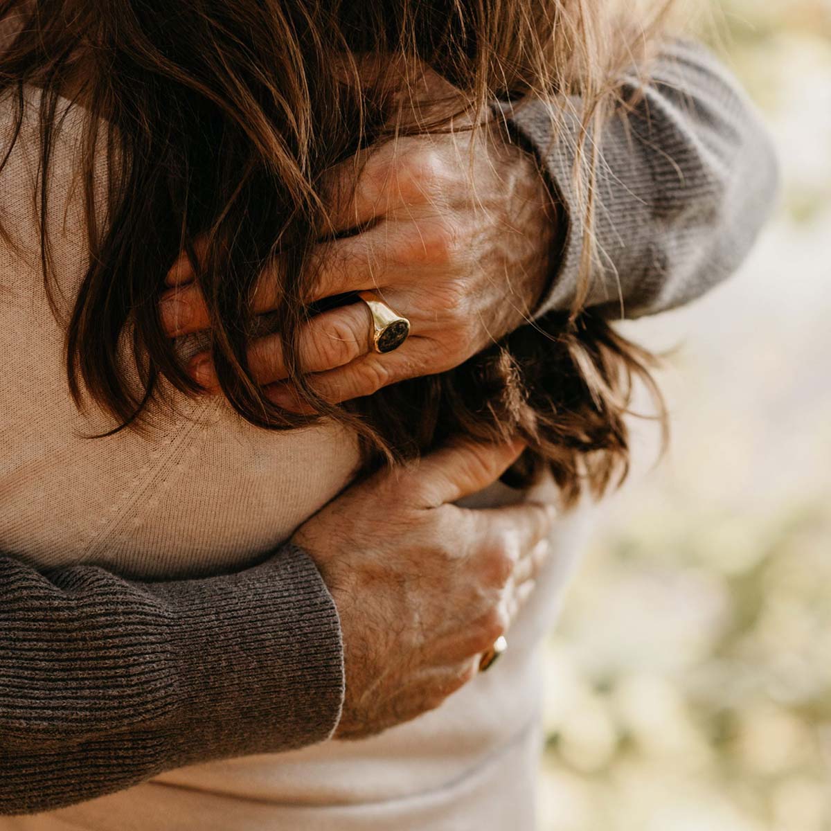
[[[411,337],[395,352],[367,352],[356,361],[308,376],[312,390],[329,404],[371,396],[383,386],[423,374],[432,345],[425,338]],[[295,387],[288,383],[268,386],[266,396],[274,404],[298,413],[311,413]]]

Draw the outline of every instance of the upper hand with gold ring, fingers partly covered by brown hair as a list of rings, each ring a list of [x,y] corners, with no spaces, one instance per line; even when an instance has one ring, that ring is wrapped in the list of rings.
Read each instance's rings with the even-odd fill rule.
[[[425,95],[446,97],[452,90],[430,71],[424,82]],[[308,300],[379,290],[410,320],[411,335],[396,352],[378,355],[371,351],[362,302],[313,317],[302,335],[300,362],[327,401],[368,396],[458,366],[528,319],[551,272],[555,212],[535,161],[509,143],[501,125],[489,123],[476,134],[414,135],[363,150],[332,171],[331,183],[334,228],[366,229],[317,248]],[[170,269],[174,288],[161,302],[171,336],[209,327],[193,278],[183,255]],[[264,274],[254,309],[268,312],[274,301],[273,275]],[[254,341],[249,365],[255,379],[269,385],[269,398],[302,409],[285,383],[279,335]],[[216,388],[205,353],[194,356],[189,371],[205,388]]]

